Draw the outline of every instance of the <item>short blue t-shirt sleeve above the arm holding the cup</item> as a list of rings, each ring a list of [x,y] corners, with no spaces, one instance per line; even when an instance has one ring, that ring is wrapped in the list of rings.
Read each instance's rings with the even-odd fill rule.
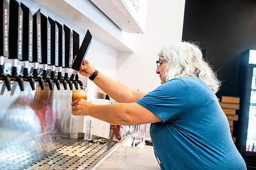
[[[181,79],[172,79],[137,101],[162,119],[162,122],[182,116],[188,109],[189,92]]]

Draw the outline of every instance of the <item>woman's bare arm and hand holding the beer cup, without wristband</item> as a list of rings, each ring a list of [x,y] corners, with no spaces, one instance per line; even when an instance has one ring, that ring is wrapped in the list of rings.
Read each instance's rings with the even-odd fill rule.
[[[156,114],[135,102],[94,105],[84,99],[79,99],[71,105],[74,115],[89,115],[115,125],[140,125],[161,121]]]

